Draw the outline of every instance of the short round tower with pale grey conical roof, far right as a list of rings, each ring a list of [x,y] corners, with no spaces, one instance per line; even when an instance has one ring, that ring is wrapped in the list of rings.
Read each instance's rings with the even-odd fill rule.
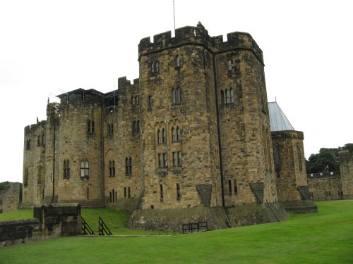
[[[270,109],[273,155],[277,180],[278,201],[286,210],[303,213],[316,211],[309,201],[304,156],[304,134],[294,130],[277,102],[268,103]]]

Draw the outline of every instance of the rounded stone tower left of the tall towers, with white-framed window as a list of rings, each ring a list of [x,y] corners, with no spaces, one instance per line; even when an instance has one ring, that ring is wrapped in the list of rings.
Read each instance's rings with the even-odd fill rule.
[[[55,194],[59,202],[102,201],[102,96],[94,89],[58,96]]]

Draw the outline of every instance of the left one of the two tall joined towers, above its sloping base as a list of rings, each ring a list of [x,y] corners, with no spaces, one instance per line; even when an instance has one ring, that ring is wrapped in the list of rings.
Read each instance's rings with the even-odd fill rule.
[[[201,25],[138,45],[143,209],[222,206],[211,44]]]

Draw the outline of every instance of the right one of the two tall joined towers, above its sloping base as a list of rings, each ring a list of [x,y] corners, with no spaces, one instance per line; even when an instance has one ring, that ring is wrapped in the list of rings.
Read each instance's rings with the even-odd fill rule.
[[[225,206],[274,203],[262,51],[247,33],[214,39]]]

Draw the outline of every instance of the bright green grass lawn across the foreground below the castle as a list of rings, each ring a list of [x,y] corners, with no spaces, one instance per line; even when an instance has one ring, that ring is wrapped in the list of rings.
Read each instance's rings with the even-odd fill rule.
[[[317,205],[319,213],[213,232],[11,246],[0,249],[0,263],[353,263],[353,201]]]

